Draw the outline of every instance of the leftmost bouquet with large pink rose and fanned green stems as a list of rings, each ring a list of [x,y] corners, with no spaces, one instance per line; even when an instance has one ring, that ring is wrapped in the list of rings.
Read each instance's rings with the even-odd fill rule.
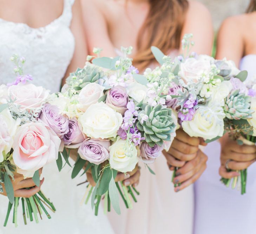
[[[7,225],[11,208],[14,204],[13,223],[17,227],[17,209],[19,201],[22,203],[24,223],[27,217],[38,223],[42,210],[50,219],[44,205],[55,211],[53,204],[39,191],[30,198],[14,198],[11,179],[19,173],[24,178],[32,177],[35,185],[40,185],[39,169],[47,163],[56,160],[60,146],[59,137],[52,129],[39,119],[40,113],[49,97],[49,92],[27,83],[30,75],[22,74],[24,58],[13,55],[14,71],[17,75],[15,82],[0,86],[0,182],[5,186],[9,199],[4,226]],[[0,184],[0,192],[4,188]]]

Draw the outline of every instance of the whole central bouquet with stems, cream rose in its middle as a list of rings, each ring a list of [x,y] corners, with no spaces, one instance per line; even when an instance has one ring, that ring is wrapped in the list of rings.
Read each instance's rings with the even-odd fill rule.
[[[69,121],[68,133],[63,136],[65,148],[68,152],[78,148],[72,178],[84,168],[84,173],[90,169],[96,182],[94,188],[87,186],[84,196],[85,203],[91,196],[95,215],[102,196],[105,213],[112,203],[120,214],[119,195],[126,207],[132,208],[131,198],[137,201],[133,191],[139,193],[132,186],[115,182],[117,173],[133,171],[139,158],[146,165],[154,162],[167,142],[172,141],[176,128],[171,109],[166,108],[166,99],[159,92],[169,82],[149,84],[126,56],[131,47],[122,51],[124,57],[96,58],[77,69],[51,103],[57,103],[60,118]],[[57,164],[62,165],[60,160],[61,156]]]

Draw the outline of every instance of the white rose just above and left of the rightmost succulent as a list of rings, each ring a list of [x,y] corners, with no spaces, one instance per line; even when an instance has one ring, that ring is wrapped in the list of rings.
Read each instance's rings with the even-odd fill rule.
[[[232,83],[229,80],[222,81],[219,86],[212,90],[210,103],[219,103],[221,106],[224,106],[224,99],[227,98],[232,88]]]

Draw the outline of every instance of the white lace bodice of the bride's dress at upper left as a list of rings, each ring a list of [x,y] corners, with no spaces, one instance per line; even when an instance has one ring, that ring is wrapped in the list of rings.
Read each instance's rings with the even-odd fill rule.
[[[14,64],[9,58],[18,54],[26,59],[24,74],[32,75],[35,85],[59,91],[74,53],[70,30],[73,2],[64,0],[61,16],[45,27],[31,28],[0,19],[0,83],[15,80]]]

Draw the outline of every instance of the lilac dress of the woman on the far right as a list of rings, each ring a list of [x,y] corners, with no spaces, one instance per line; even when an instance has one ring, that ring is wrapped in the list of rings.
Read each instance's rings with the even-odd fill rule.
[[[256,55],[245,56],[241,70],[248,79],[256,75]],[[248,168],[246,194],[226,188],[219,180],[220,145],[218,141],[205,147],[207,169],[195,183],[194,234],[256,233],[256,163]]]

